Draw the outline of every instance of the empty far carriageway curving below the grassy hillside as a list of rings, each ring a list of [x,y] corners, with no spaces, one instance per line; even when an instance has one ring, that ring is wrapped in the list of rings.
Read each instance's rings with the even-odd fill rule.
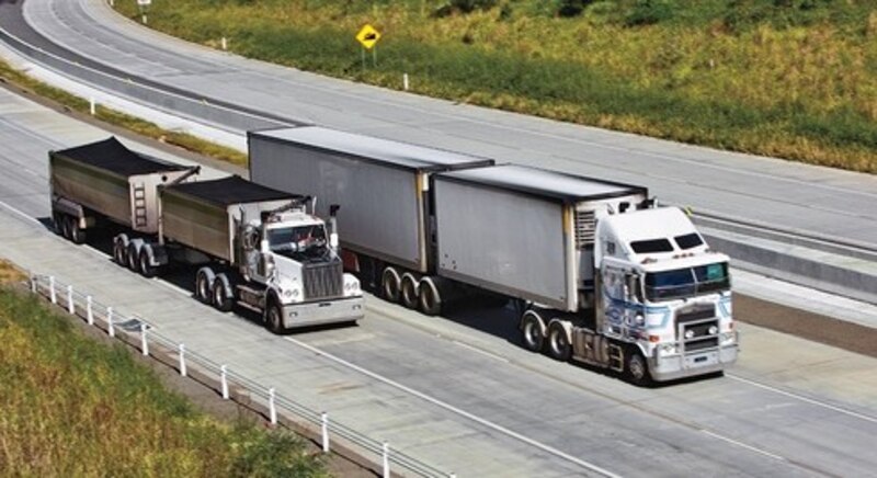
[[[21,4],[21,2],[19,2]],[[877,178],[490,111],[247,60],[139,27],[102,0],[27,0],[82,61],[274,117],[647,185],[659,200],[877,246]],[[2,5],[0,25],[27,24]],[[234,42],[234,38],[231,39]],[[412,79],[417,82],[417,78]],[[215,118],[214,118],[215,120]]]

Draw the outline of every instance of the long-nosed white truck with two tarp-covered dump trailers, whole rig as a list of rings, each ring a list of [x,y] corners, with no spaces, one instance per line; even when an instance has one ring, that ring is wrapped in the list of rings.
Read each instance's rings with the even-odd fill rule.
[[[312,196],[237,175],[200,180],[200,167],[116,138],[49,151],[49,182],[59,234],[81,243],[89,231],[115,231],[115,262],[148,277],[195,265],[195,297],[219,310],[253,309],[275,333],[364,315],[360,282],[339,254],[338,206],[327,231]]]

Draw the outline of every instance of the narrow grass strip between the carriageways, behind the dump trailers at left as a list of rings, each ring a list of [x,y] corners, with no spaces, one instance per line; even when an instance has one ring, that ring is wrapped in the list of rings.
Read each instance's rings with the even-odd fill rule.
[[[34,94],[56,102],[68,110],[83,114],[88,114],[90,112],[90,105],[87,100],[33,79],[12,68],[9,64],[2,60],[0,60],[0,80],[3,80],[10,84],[14,84],[24,90],[32,91]],[[169,145],[179,146],[183,149],[197,152],[200,155],[228,161],[232,164],[247,164],[247,155],[236,149],[220,146],[186,133],[162,129],[155,123],[150,123],[104,106],[99,105],[95,113],[96,114],[94,117],[96,120],[128,129],[133,133],[158,139]]]

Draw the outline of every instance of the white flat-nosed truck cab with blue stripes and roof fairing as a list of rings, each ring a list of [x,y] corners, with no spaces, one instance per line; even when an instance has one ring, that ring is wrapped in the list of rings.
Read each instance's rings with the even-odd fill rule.
[[[597,223],[596,328],[627,344],[636,382],[720,372],[737,360],[729,258],[676,207]]]

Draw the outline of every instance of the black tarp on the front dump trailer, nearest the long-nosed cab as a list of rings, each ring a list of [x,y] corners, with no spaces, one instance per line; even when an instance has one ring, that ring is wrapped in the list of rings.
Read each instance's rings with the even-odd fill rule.
[[[168,186],[168,191],[186,194],[220,206],[304,197],[298,194],[289,194],[271,187],[261,186],[239,175],[213,181],[174,184]]]

